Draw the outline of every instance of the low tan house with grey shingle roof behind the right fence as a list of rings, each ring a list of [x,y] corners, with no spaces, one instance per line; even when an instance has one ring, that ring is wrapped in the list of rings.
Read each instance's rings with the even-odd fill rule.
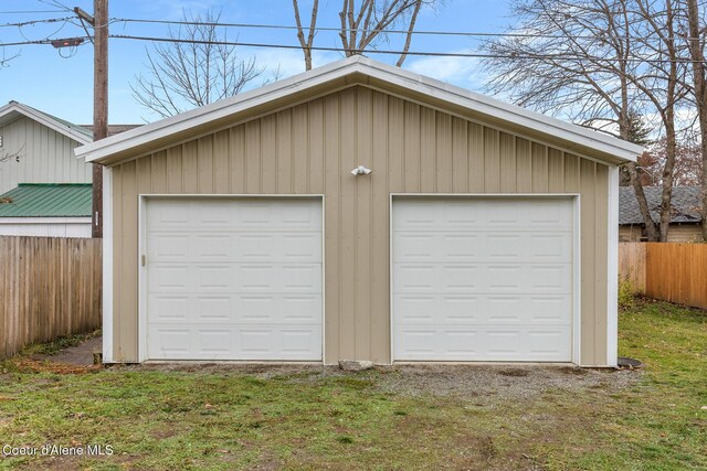
[[[644,186],[653,221],[661,220],[662,186]],[[667,242],[703,242],[699,186],[674,186]],[[645,224],[633,186],[621,186],[619,194],[619,240],[647,240]]]

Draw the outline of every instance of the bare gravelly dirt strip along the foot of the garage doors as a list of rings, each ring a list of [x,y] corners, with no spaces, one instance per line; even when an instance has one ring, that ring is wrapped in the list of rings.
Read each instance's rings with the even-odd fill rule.
[[[233,363],[146,363],[119,365],[120,371],[162,371],[199,374],[252,375],[261,379],[282,379],[316,384],[327,378],[357,382],[361,387],[383,394],[410,396],[457,396],[479,407],[511,398],[529,399],[551,390],[614,392],[631,386],[639,371],[591,370],[559,365],[395,365],[350,373],[338,366],[233,364]]]

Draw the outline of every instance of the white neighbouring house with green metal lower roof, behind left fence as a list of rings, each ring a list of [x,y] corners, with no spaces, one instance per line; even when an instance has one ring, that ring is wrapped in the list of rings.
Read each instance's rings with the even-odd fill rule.
[[[113,136],[137,125],[112,125]],[[0,107],[0,235],[91,237],[92,164],[78,126],[18,101]],[[4,203],[2,203],[4,202]]]

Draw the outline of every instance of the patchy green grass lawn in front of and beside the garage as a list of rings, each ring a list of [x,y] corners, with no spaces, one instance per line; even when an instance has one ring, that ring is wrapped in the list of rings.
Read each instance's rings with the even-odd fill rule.
[[[0,374],[0,446],[114,454],[0,457],[0,468],[707,469],[707,312],[639,301],[621,313],[620,354],[645,371],[574,372],[580,386],[540,382],[531,394],[524,384],[541,367],[488,367],[492,389],[440,394],[454,368],[421,385],[391,368],[57,375],[15,358]]]

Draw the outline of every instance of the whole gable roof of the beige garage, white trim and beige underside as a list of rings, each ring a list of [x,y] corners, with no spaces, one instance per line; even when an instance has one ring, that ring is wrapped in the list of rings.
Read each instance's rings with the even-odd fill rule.
[[[419,98],[609,164],[635,161],[643,153],[643,148],[634,143],[360,55],[80,147],[75,152],[87,162],[110,164],[217,126],[356,84]]]

